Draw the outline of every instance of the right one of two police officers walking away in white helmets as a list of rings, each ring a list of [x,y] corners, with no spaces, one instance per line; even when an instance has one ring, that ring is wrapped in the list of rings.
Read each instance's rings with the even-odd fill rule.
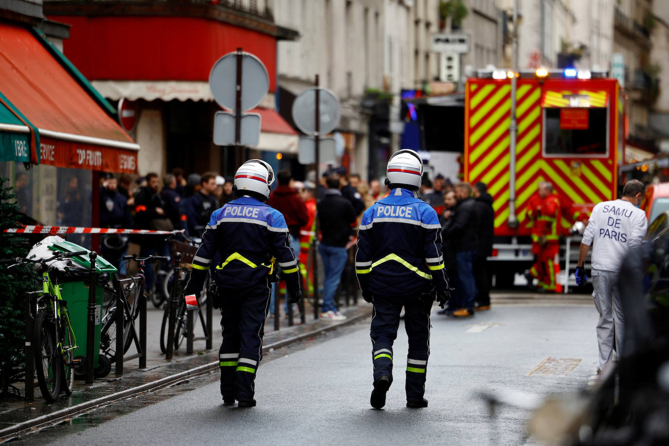
[[[372,407],[381,409],[393,382],[393,341],[404,307],[409,337],[407,407],[427,407],[425,372],[429,356],[429,312],[444,308],[449,286],[442,255],[441,225],[432,206],[417,198],[423,161],[413,150],[399,150],[388,161],[390,195],[363,215],[355,268],[363,298],[374,305],[371,322],[374,390]]]

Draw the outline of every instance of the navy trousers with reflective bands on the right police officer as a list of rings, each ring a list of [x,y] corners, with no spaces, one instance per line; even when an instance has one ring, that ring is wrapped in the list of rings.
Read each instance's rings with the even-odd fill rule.
[[[393,342],[397,338],[399,315],[404,307],[404,328],[409,338],[405,389],[407,401],[421,401],[425,394],[425,375],[429,357],[429,312],[417,296],[405,298],[374,296],[370,335],[374,380],[387,375],[393,380]]]

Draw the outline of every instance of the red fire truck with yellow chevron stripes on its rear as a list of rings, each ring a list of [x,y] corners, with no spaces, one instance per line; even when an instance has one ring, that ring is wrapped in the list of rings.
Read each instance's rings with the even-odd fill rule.
[[[512,153],[514,77],[517,130]],[[595,204],[617,197],[624,94],[606,72],[571,69],[479,71],[465,88],[464,181],[488,185],[496,241],[490,260],[498,286],[510,285],[514,273],[533,260],[526,214],[540,181],[553,183],[559,196],[565,236],[576,220],[587,219]],[[563,252],[570,257],[568,246]],[[564,254],[561,260],[564,269]],[[565,273],[558,280],[569,277]]]

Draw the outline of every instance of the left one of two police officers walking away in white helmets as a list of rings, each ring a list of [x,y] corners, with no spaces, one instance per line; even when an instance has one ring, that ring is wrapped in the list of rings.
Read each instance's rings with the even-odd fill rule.
[[[262,160],[249,160],[237,170],[237,199],[211,214],[184,290],[199,295],[211,267],[223,328],[221,395],[223,403],[231,405],[236,399],[239,407],[256,405],[254,379],[262,359],[273,269],[282,271],[289,303],[302,297],[288,226],[279,211],[265,204],[273,182],[274,171]]]

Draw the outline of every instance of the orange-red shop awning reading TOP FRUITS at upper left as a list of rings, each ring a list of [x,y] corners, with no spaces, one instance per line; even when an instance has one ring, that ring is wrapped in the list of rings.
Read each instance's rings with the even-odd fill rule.
[[[0,23],[0,79],[38,129],[43,164],[136,172],[139,146],[28,29]]]

